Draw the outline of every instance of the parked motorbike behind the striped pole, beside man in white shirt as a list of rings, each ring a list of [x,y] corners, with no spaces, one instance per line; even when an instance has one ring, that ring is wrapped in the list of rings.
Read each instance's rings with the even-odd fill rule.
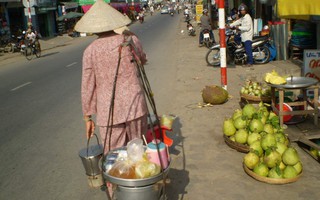
[[[236,32],[232,29],[226,30],[226,51],[227,62],[234,61],[235,64],[245,64],[247,62],[247,55],[242,43],[237,43],[234,38]],[[268,35],[257,36],[252,40],[252,54],[255,64],[265,64],[270,60],[269,45],[271,39]],[[220,44],[210,47],[206,54],[207,64],[210,66],[220,66]]]

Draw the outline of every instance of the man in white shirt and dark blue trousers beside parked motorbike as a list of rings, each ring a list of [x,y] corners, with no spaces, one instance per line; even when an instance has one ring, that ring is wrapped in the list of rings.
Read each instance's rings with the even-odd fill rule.
[[[244,47],[247,54],[247,65],[245,67],[252,67],[253,55],[252,55],[252,38],[253,38],[253,23],[252,18],[248,13],[248,7],[245,4],[241,4],[238,8],[241,17],[230,24],[230,28],[235,28],[240,31],[241,42],[244,43]]]

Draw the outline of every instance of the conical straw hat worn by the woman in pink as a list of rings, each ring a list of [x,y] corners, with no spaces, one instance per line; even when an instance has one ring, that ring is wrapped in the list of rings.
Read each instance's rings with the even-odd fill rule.
[[[131,20],[119,11],[97,0],[90,10],[82,16],[74,29],[80,33],[101,33],[111,31],[131,23]]]

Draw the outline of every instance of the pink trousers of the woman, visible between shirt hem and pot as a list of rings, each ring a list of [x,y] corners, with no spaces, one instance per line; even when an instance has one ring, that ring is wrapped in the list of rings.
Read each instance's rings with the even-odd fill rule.
[[[104,155],[106,155],[109,150],[126,146],[132,139],[141,138],[143,134],[146,134],[147,128],[147,114],[132,121],[113,125],[109,127],[108,133],[107,126],[100,126],[99,132],[102,145],[104,146]],[[111,129],[112,132],[110,135]]]

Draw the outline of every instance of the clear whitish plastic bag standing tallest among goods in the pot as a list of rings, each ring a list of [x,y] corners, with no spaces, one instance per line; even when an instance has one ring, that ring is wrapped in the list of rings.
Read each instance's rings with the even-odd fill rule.
[[[140,138],[133,139],[127,144],[128,159],[133,163],[143,159],[144,151],[143,141]]]

